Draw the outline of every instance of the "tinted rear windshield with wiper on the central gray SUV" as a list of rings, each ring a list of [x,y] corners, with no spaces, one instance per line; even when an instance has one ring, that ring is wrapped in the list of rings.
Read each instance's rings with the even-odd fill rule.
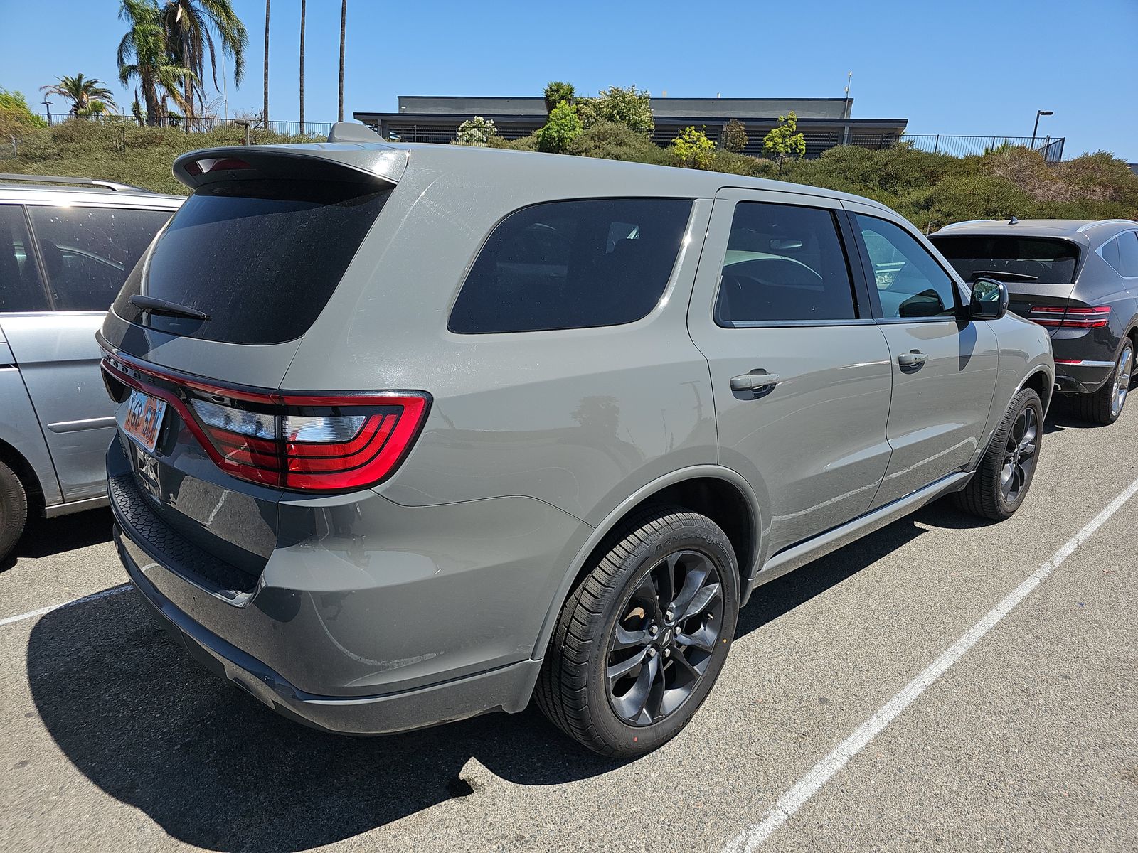
[[[132,323],[225,343],[299,338],[323,310],[390,189],[335,181],[240,181],[199,189],[123,285]],[[142,295],[206,321],[143,312]]]

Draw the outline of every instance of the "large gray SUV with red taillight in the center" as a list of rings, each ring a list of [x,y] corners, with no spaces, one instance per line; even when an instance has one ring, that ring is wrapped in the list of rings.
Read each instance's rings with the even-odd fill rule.
[[[1031,485],[1046,331],[873,201],[460,146],[174,172],[100,334],[115,538],[196,659],[303,722],[536,695],[636,755],[757,586]]]

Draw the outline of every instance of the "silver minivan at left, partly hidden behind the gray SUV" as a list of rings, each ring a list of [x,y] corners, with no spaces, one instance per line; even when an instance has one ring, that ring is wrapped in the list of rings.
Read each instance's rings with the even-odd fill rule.
[[[181,200],[107,181],[0,175],[0,561],[31,513],[106,506],[115,417],[94,333]]]

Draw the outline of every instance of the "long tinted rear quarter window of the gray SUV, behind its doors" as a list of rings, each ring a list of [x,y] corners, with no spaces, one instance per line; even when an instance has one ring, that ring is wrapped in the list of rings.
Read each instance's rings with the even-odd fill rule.
[[[632,323],[660,301],[690,199],[587,199],[517,210],[494,229],[447,328],[460,334]]]

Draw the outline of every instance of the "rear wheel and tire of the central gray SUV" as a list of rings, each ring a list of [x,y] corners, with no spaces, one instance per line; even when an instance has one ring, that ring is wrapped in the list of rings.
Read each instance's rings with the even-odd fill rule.
[[[582,745],[635,757],[679,734],[715,685],[739,564],[715,522],[678,507],[638,513],[607,544],[561,610],[535,698]]]

